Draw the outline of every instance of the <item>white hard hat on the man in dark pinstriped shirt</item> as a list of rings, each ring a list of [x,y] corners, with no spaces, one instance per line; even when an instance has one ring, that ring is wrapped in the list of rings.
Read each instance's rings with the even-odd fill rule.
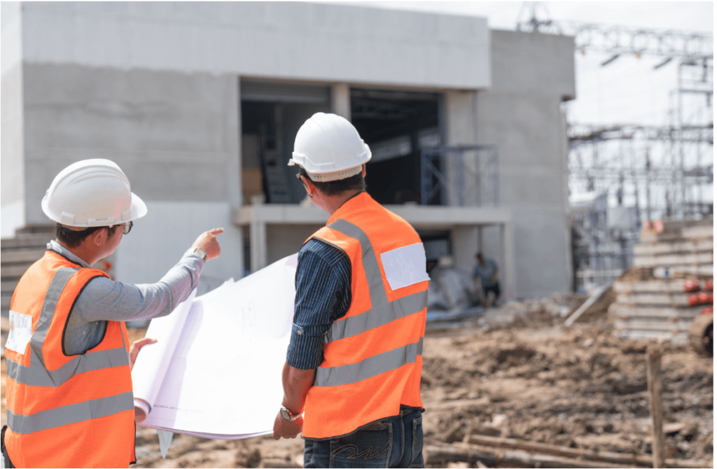
[[[336,114],[315,113],[301,126],[289,166],[297,164],[312,181],[338,181],[361,173],[371,159],[369,146],[348,120]]]

